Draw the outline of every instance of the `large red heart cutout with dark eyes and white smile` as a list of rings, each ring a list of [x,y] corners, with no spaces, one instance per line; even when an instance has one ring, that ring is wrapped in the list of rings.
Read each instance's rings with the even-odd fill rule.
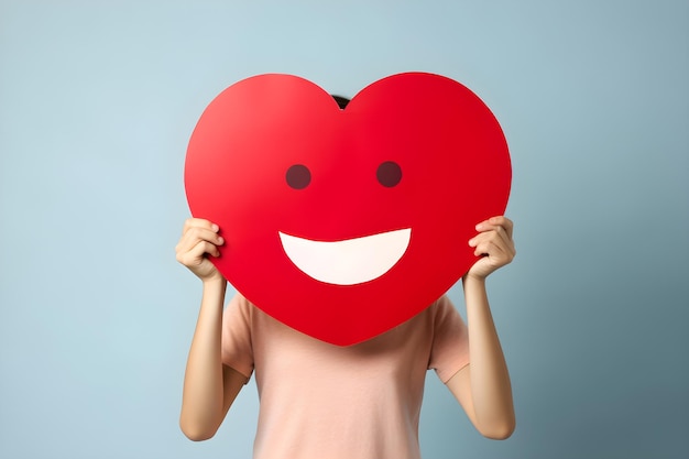
[[[259,75],[217,96],[189,141],[192,214],[220,227],[212,259],[256,307],[348,346],[412,318],[477,258],[502,215],[505,138],[461,84],[405,73],[344,110],[313,83]]]

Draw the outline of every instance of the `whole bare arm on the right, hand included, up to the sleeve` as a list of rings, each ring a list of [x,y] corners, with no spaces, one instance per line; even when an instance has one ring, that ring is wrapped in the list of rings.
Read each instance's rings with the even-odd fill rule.
[[[514,431],[514,404],[510,373],[488,302],[485,277],[514,258],[512,221],[494,217],[477,229],[480,234],[470,244],[477,254],[485,256],[463,278],[471,363],[447,385],[482,435],[504,439]]]

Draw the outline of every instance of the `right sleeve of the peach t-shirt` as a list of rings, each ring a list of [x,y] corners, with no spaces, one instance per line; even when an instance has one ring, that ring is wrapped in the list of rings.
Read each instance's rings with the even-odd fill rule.
[[[434,338],[428,368],[436,371],[442,383],[447,383],[469,363],[469,332],[446,295],[431,307],[435,309]]]

